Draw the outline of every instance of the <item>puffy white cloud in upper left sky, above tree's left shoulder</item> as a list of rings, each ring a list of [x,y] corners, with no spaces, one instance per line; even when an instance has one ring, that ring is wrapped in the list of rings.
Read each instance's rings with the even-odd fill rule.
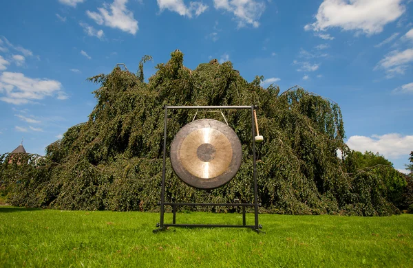
[[[86,14],[90,19],[98,23],[98,25],[105,24],[108,27],[129,32],[129,34],[136,34],[138,31],[138,21],[134,19],[134,13],[126,8],[127,1],[128,0],[114,0],[110,5],[104,3],[103,8],[98,8],[99,12],[87,10]]]

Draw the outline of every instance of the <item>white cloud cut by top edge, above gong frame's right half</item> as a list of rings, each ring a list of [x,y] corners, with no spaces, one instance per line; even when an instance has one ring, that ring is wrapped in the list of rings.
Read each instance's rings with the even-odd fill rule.
[[[257,20],[265,10],[265,3],[255,0],[213,0],[213,5],[217,10],[233,13],[238,27],[244,27],[246,24],[260,26]]]

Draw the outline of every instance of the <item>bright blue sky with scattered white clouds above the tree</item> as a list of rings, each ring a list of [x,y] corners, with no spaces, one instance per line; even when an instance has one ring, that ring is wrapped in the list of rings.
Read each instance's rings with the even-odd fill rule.
[[[116,63],[155,73],[174,49],[194,69],[231,60],[246,80],[337,102],[346,142],[398,169],[413,150],[412,0],[21,0],[0,4],[0,153],[29,153],[87,121]]]

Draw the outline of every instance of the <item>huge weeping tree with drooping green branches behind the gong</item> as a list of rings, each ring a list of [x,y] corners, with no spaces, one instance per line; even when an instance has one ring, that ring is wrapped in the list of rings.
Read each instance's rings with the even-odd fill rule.
[[[211,60],[188,69],[179,50],[171,53],[167,63],[156,65],[156,74],[145,82],[143,64],[147,60],[151,57],[142,58],[136,74],[116,66],[110,74],[88,78],[98,85],[93,92],[97,104],[89,120],[72,126],[62,139],[47,146],[41,163],[17,164],[14,158],[9,163],[11,156],[3,155],[1,184],[12,204],[65,210],[156,211],[162,177],[163,107],[255,104],[260,133],[265,137],[257,146],[262,212],[399,213],[393,202],[397,193],[391,186],[393,181],[403,184],[403,177],[396,170],[354,170],[344,163],[343,157],[350,150],[343,142],[343,119],[337,103],[301,87],[281,94],[275,85],[264,89],[262,76],[247,82],[229,61],[220,64]],[[224,113],[242,143],[243,164],[236,177],[215,190],[196,190],[182,183],[167,161],[167,200],[253,202],[251,114],[241,110]],[[169,112],[168,145],[194,115],[195,111],[187,109]],[[338,149],[343,155],[337,155]]]

